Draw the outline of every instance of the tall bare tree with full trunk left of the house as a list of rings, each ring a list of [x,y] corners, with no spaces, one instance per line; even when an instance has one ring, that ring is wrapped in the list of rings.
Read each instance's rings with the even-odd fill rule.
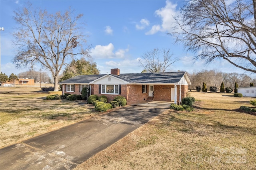
[[[16,67],[40,63],[49,69],[54,78],[54,91],[58,91],[58,75],[68,58],[88,56],[86,37],[81,33],[82,14],[67,10],[63,14],[48,14],[46,10],[33,9],[31,4],[14,12],[19,24],[14,33],[19,51],[13,58]]]

